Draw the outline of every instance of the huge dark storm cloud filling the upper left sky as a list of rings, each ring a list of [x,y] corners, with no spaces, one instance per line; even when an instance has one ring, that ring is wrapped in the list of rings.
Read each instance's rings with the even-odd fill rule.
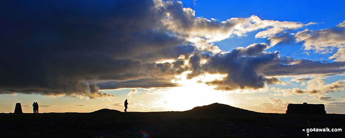
[[[176,74],[154,61],[194,51],[169,33],[161,22],[167,9],[151,0],[6,1],[0,9],[1,94],[113,96],[96,84],[132,88],[157,80],[151,68]],[[179,64],[177,73],[185,70]],[[143,87],[176,86],[164,79]]]

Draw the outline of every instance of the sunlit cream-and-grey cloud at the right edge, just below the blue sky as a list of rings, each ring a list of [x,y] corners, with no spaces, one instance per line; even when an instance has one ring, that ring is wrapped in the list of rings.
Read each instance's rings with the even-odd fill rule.
[[[282,23],[282,22],[280,22]],[[297,33],[291,33],[291,30],[307,26],[309,24],[300,24],[296,28],[281,28],[281,24],[276,29],[267,29],[256,34],[256,38],[267,38],[270,42],[270,46],[274,46],[278,43],[302,43],[304,50],[313,50],[316,53],[333,53],[333,56],[329,59],[335,59],[334,61],[345,61],[345,21],[338,24],[334,28],[321,29],[321,30],[309,30],[298,31]],[[264,33],[265,32],[265,33]],[[272,33],[268,33],[272,32]],[[262,34],[264,33],[264,34]],[[308,54],[309,52],[306,53]]]

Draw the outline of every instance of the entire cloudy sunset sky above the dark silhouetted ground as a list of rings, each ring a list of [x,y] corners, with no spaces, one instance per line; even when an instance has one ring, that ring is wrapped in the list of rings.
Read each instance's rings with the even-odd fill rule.
[[[345,114],[345,1],[1,1],[0,112]]]

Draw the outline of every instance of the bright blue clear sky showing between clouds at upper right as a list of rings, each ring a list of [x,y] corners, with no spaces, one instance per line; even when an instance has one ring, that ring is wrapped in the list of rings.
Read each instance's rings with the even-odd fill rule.
[[[316,22],[318,24],[310,25],[310,30],[321,30],[333,28],[345,20],[345,1],[313,1],[313,0],[290,0],[290,1],[273,1],[273,0],[183,0],[184,7],[191,7],[195,10],[195,16],[207,19],[217,19],[225,21],[232,17],[250,17],[256,15],[263,20],[277,21],[297,21],[302,23]],[[305,29],[302,28],[302,29]],[[246,47],[252,43],[267,42],[265,39],[255,39],[258,31],[248,33],[248,37],[235,37],[216,42],[222,50],[231,51],[237,47]],[[302,54],[300,45],[286,46],[278,45],[269,51],[281,51],[281,55],[295,58],[308,58],[313,60],[327,59],[329,55],[313,55],[309,57]],[[283,50],[280,50],[283,49]],[[290,52],[296,51],[296,52]],[[297,52],[298,51],[298,52]],[[315,59],[316,58],[316,59]]]

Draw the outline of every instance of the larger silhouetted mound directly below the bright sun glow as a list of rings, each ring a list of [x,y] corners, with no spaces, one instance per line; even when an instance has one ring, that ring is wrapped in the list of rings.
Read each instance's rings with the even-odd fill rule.
[[[249,111],[221,103],[212,103],[206,106],[194,107],[186,112],[197,113],[197,114],[255,114],[258,112]]]

